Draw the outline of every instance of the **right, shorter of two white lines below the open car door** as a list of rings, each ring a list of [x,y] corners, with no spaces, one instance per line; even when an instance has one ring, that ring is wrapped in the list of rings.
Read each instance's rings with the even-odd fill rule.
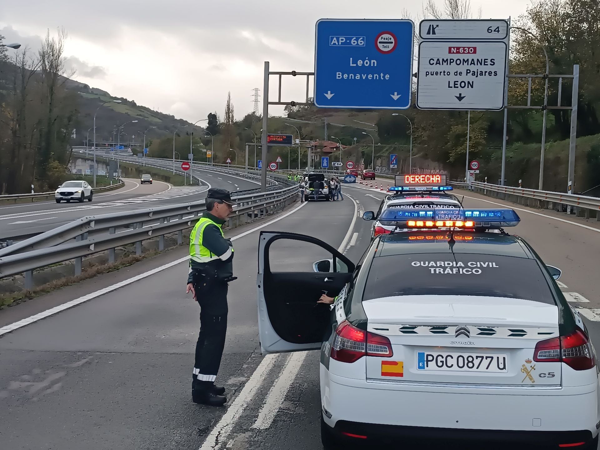
[[[271,386],[271,390],[269,390],[265,403],[263,403],[252,428],[266,430],[271,427],[273,419],[275,419],[279,408],[284,400],[286,400],[287,391],[292,387],[292,383],[307,355],[308,352],[297,352],[288,356],[286,363],[281,367],[277,379],[275,379],[274,385]]]

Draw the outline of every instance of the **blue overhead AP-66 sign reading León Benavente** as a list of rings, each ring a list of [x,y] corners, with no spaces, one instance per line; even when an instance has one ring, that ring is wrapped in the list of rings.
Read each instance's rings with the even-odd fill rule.
[[[409,108],[414,29],[412,20],[319,20],[314,104],[322,108]]]

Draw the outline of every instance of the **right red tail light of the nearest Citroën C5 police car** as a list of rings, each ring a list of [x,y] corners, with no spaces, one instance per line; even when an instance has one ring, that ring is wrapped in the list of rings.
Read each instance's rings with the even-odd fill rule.
[[[580,329],[566,336],[539,341],[533,352],[533,361],[564,362],[575,370],[588,370],[596,365],[592,344]]]

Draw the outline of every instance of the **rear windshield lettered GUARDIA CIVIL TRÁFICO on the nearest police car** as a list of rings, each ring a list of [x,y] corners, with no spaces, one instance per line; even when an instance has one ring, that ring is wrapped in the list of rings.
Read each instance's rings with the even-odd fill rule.
[[[535,260],[482,254],[375,257],[362,299],[397,295],[477,295],[555,304]]]

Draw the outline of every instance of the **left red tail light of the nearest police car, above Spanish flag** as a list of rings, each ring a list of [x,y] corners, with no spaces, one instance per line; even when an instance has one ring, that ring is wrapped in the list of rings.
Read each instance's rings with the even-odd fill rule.
[[[385,336],[363,331],[347,320],[335,329],[331,358],[340,362],[355,362],[363,356],[391,358],[392,343]]]

